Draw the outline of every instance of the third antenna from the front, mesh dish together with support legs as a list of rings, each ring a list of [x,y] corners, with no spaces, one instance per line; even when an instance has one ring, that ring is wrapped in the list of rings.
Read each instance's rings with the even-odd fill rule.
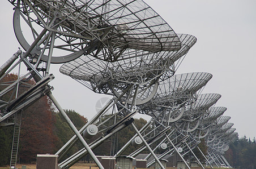
[[[182,143],[182,140],[185,141],[188,139],[173,127],[173,122],[181,118],[183,114],[181,114],[180,117],[176,117],[175,120],[173,114],[176,114],[179,109],[183,109],[183,111],[180,110],[180,112],[184,112],[182,106],[185,107],[194,103],[196,92],[206,85],[211,77],[212,75],[209,73],[185,73],[174,75],[159,84],[159,88],[153,99],[150,101],[150,104],[146,103],[139,106],[140,112],[146,112],[146,114],[152,116],[151,121],[148,122],[140,132],[144,139],[147,140],[148,144],[152,146],[154,151],[160,148],[162,151],[167,149],[164,151],[165,153],[173,152],[174,149],[172,148],[172,145],[170,145],[170,142],[179,146]],[[177,100],[183,101],[180,102],[180,104],[173,106],[173,103],[177,102]],[[189,102],[189,100],[194,101],[190,101],[190,104],[188,104],[187,102]],[[116,155],[122,153],[129,144],[136,139],[138,139],[137,135],[135,135]],[[172,139],[172,141],[170,141],[170,139]],[[142,145],[129,156],[135,157],[145,148],[146,146]],[[165,153],[163,153],[161,157],[164,157]],[[145,159],[148,158],[150,158],[150,154],[145,157]],[[148,166],[150,166],[152,162],[149,162]]]

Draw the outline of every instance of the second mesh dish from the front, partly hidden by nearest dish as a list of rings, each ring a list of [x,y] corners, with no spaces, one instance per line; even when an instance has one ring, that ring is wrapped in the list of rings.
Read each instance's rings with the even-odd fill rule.
[[[178,34],[178,37],[182,42],[182,48],[178,51],[127,49],[120,56],[122,59],[115,62],[96,59],[92,55],[81,56],[63,64],[60,72],[79,80],[97,93],[120,96],[128,86],[132,86],[123,98],[130,104],[136,92],[136,104],[143,104],[152,99],[161,75],[171,77],[176,70],[174,62],[197,41],[193,35]]]

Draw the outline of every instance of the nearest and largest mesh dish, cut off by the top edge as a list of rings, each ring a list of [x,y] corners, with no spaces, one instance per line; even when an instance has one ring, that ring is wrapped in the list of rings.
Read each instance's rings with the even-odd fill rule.
[[[151,52],[181,48],[173,29],[142,0],[10,2],[15,6],[14,30],[20,45],[27,51],[40,37],[30,54],[42,61],[48,61],[51,46],[51,63],[66,63],[82,54],[116,61],[127,48]]]

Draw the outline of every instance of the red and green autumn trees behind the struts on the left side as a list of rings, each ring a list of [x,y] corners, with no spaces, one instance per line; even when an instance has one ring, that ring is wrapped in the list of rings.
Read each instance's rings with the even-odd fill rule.
[[[9,74],[3,78],[0,84],[5,82],[15,81],[18,78],[16,74]],[[27,84],[34,84],[32,80],[26,82]],[[28,85],[29,86],[29,85]],[[0,85],[0,91],[5,86]],[[20,86],[20,92],[22,93],[26,87]],[[5,95],[2,100],[10,100],[12,91]],[[12,98],[13,99],[13,98]],[[18,149],[18,162],[19,163],[33,163],[36,162],[37,154],[54,154],[59,150],[73,135],[71,130],[61,113],[57,112],[52,102],[47,96],[37,100],[33,105],[29,106],[22,112],[22,123],[20,128],[19,137],[19,149]],[[4,112],[3,108],[0,108],[1,112]],[[80,130],[88,122],[86,117],[75,112],[75,110],[65,110],[75,127]],[[140,118],[135,119],[135,126],[140,129],[146,120]],[[12,137],[14,134],[14,126],[2,126],[0,127],[0,166],[10,164]],[[135,131],[126,127],[122,130],[122,134],[116,134],[114,137],[117,139],[116,147],[120,148],[128,139],[135,134]],[[88,143],[93,141],[87,140]],[[83,148],[82,144],[78,143],[67,153],[71,155]],[[129,149],[135,150],[135,147]],[[110,139],[101,144],[98,148],[93,150],[96,155],[109,155],[110,153]],[[129,153],[129,152],[127,152]],[[87,155],[84,158],[86,161],[91,161],[91,158]]]

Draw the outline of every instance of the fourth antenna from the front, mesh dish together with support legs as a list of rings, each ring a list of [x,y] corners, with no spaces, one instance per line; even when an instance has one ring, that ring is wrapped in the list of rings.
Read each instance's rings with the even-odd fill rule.
[[[198,95],[197,101],[191,104],[189,108],[185,110],[182,117],[172,124],[176,130],[171,132],[168,136],[169,139],[161,142],[161,144],[167,144],[168,149],[161,154],[160,157],[163,158],[168,153],[176,151],[186,163],[184,156],[200,143],[199,136],[197,132],[195,132],[200,124],[200,119],[202,119],[203,115],[207,114],[207,110],[210,106],[214,105],[219,99],[219,94]],[[170,140],[172,144],[170,144]],[[178,148],[180,152],[178,152]],[[153,161],[149,162],[148,165],[152,163]],[[186,165],[188,167],[187,163]]]

